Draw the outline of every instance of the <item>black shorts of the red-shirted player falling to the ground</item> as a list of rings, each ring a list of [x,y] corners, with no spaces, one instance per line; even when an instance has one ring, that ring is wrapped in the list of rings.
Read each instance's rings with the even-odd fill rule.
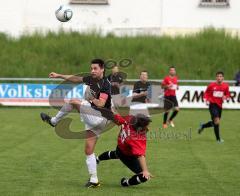
[[[137,157],[124,155],[118,147],[116,149],[116,154],[118,158],[123,162],[123,164],[126,165],[135,174],[142,172],[142,168]]]

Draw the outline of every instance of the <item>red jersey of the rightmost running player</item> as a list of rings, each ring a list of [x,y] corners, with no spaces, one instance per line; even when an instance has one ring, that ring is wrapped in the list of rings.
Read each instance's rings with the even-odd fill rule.
[[[216,82],[209,84],[204,93],[204,99],[206,99],[210,103],[217,104],[221,108],[223,101],[225,99],[228,99],[229,97],[229,85],[224,82],[222,82],[221,84],[218,84]]]

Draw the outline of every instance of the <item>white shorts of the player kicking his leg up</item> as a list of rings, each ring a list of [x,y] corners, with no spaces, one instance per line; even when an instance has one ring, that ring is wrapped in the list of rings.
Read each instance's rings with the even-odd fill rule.
[[[80,105],[80,118],[85,124],[85,130],[90,130],[97,137],[104,131],[109,120],[102,116],[102,113],[91,107],[91,104],[83,100]]]

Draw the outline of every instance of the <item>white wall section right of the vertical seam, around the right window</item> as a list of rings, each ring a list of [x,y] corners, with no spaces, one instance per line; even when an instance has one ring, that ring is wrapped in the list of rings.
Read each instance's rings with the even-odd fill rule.
[[[240,1],[231,0],[229,8],[199,7],[199,0],[164,0],[163,24],[165,28],[240,28]]]

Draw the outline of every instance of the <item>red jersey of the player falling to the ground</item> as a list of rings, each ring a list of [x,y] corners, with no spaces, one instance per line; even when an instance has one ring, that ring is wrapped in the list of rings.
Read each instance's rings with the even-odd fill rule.
[[[118,136],[118,148],[126,156],[145,156],[146,131],[137,131],[131,125],[133,116],[114,115],[117,124],[121,125]]]

